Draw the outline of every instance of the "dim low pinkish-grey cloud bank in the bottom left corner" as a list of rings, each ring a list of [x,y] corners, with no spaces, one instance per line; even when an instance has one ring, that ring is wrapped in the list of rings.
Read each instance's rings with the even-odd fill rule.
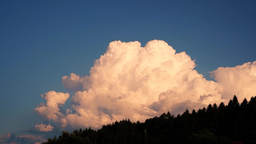
[[[42,137],[36,137],[34,135],[19,135],[7,134],[0,135],[0,144],[41,144],[46,141]]]

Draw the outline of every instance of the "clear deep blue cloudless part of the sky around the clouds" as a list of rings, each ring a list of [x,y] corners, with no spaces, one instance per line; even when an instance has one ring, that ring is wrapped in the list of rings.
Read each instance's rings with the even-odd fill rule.
[[[159,39],[204,74],[255,61],[256,1],[0,1],[0,134],[42,122],[40,94],[89,74],[114,40]],[[67,103],[66,106],[68,106]]]

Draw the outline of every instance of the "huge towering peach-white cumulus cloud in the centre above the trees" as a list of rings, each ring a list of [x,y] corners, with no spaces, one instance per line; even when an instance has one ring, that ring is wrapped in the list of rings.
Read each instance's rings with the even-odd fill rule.
[[[217,83],[206,80],[195,66],[189,55],[176,53],[161,40],[152,40],[144,47],[139,42],[111,42],[94,62],[89,76],[71,73],[62,78],[65,88],[75,92],[65,114],[60,113],[58,104],[64,104],[69,95],[54,91],[43,95],[47,102],[36,111],[62,127],[100,128],[115,120],[144,121],[167,111],[177,114],[232,98],[234,94],[224,93],[225,83],[218,79],[218,69],[211,73]]]

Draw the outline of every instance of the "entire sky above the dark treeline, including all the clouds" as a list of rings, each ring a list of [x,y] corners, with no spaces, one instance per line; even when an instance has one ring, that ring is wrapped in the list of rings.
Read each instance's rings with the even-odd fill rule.
[[[1,0],[0,142],[255,96],[255,6]]]

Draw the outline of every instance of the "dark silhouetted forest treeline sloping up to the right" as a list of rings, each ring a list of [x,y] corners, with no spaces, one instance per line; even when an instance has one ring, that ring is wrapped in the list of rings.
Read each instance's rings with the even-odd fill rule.
[[[240,104],[236,96],[228,105],[209,104],[207,108],[186,110],[177,117],[163,113],[145,122],[129,119],[104,125],[98,131],[91,128],[59,137],[43,144],[229,144],[243,141],[256,144],[256,96]]]

